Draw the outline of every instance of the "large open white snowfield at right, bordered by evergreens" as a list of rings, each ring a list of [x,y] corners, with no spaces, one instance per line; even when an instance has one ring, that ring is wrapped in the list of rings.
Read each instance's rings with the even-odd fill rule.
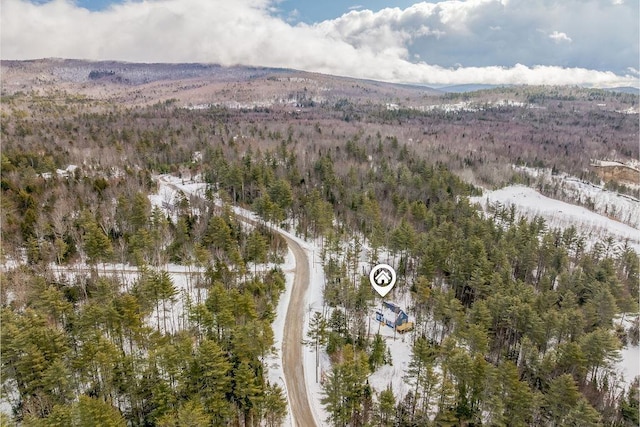
[[[489,205],[515,206],[518,214],[527,218],[540,216],[550,228],[575,226],[587,243],[594,244],[612,236],[622,245],[629,245],[640,253],[640,230],[599,215],[586,208],[551,199],[536,190],[524,186],[509,186],[495,191],[485,191],[482,196],[472,197],[472,203],[479,203],[486,211]]]

